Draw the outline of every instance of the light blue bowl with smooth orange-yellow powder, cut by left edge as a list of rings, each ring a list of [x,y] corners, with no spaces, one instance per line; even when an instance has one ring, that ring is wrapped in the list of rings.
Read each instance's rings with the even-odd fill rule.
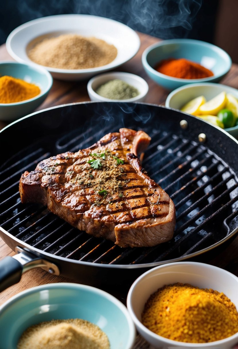
[[[33,112],[53,83],[46,69],[12,61],[0,63],[0,120],[13,121]]]

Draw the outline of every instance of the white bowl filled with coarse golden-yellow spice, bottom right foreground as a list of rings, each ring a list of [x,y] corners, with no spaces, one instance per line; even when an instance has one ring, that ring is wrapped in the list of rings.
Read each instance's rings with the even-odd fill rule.
[[[131,286],[127,308],[151,348],[232,348],[238,343],[238,277],[198,262],[165,264]]]

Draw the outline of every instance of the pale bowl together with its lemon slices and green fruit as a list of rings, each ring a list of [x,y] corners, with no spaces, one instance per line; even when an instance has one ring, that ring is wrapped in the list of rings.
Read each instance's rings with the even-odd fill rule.
[[[194,83],[172,91],[166,107],[194,115],[238,138],[238,90],[216,83]]]

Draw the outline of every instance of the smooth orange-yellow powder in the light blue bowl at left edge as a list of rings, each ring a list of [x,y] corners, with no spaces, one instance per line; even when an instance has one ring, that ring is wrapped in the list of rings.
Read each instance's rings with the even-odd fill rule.
[[[12,76],[0,77],[0,103],[16,103],[33,98],[40,93],[40,88]]]

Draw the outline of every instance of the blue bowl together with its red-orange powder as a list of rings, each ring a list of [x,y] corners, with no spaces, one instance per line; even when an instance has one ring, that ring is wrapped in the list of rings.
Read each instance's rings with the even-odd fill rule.
[[[195,82],[218,82],[231,68],[231,58],[213,44],[193,39],[169,39],[142,54],[146,73],[168,90]]]

